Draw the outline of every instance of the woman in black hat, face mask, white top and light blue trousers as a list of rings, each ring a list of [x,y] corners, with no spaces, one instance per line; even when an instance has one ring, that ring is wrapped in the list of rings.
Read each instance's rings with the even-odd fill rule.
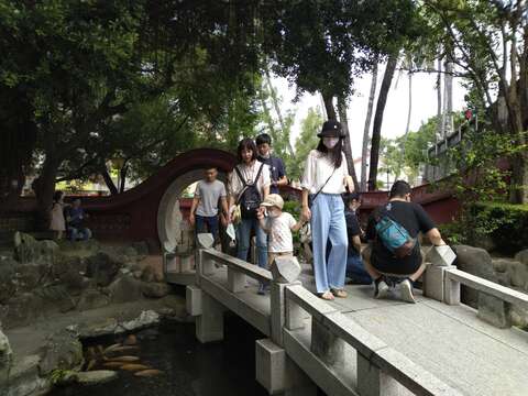
[[[302,175],[302,216],[311,219],[317,294],[331,300],[334,296],[346,297],[348,239],[341,194],[346,187],[352,193],[354,187],[342,152],[344,135],[341,124],[333,120],[324,122],[318,136],[321,140],[308,155]],[[308,196],[312,199],[311,208]],[[329,240],[332,249],[327,263]]]

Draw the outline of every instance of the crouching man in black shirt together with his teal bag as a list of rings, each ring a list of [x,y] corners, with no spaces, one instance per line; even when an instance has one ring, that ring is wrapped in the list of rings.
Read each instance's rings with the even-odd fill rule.
[[[389,293],[389,277],[404,278],[399,283],[402,298],[416,302],[413,283],[426,270],[422,263],[418,233],[421,231],[436,246],[444,245],[440,231],[424,208],[410,201],[411,188],[397,180],[389,193],[389,201],[371,215],[366,228],[370,249],[363,252],[365,268],[374,279],[375,298]]]

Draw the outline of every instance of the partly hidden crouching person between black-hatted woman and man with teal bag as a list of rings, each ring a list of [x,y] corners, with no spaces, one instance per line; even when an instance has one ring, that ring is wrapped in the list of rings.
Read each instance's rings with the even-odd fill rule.
[[[370,285],[372,278],[363,266],[361,260],[361,228],[358,221],[356,210],[361,206],[358,193],[344,194],[344,221],[346,222],[346,235],[349,250],[346,255],[346,277],[350,283],[356,285]]]

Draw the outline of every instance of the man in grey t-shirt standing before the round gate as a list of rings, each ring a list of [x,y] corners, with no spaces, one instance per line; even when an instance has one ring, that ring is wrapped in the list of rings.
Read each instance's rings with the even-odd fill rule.
[[[206,177],[198,182],[190,207],[189,221],[195,226],[196,233],[210,232],[215,240],[218,239],[218,204],[221,204],[224,216],[229,221],[226,185],[217,180],[218,169],[206,169]],[[226,224],[224,224],[226,226]]]

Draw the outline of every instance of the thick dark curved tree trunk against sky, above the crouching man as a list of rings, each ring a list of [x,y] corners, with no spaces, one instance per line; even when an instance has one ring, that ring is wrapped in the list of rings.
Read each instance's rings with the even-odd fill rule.
[[[383,74],[383,81],[380,88],[380,95],[377,97],[376,113],[374,114],[374,127],[372,129],[372,144],[371,144],[371,167],[369,172],[369,191],[376,189],[377,180],[377,165],[380,162],[380,141],[382,139],[382,124],[383,113],[385,111],[385,105],[387,103],[388,90],[391,89],[391,82],[393,81],[394,72],[396,70],[396,64],[398,62],[398,55],[393,54],[388,57],[385,73]]]

